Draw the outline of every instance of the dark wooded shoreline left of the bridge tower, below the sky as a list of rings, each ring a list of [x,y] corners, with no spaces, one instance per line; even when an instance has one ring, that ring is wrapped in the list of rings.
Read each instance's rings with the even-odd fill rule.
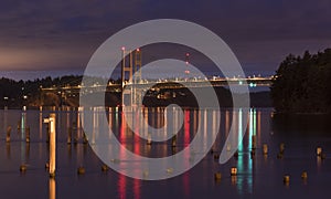
[[[85,76],[86,81],[104,82],[103,77]],[[89,80],[90,78],[90,80]],[[66,75],[52,78],[51,76],[44,78],[36,78],[34,81],[14,81],[10,78],[0,78],[0,108],[7,106],[10,108],[17,108],[22,106],[35,106],[50,105],[56,106],[62,104],[62,97],[56,92],[53,94],[42,93],[42,88],[50,87],[65,87],[77,86],[82,84],[82,75]],[[108,82],[113,84],[120,84],[120,78],[109,78]],[[56,91],[56,90],[55,90]],[[71,105],[78,104],[78,95],[70,96]],[[42,100],[43,98],[43,100]]]

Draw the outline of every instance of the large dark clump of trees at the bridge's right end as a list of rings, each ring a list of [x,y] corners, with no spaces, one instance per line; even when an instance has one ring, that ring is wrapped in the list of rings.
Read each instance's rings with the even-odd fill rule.
[[[277,112],[331,112],[331,49],[289,54],[276,71],[271,98]]]

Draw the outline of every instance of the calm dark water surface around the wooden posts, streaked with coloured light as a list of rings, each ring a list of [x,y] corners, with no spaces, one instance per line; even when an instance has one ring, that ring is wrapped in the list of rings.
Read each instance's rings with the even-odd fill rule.
[[[145,111],[148,123],[162,126],[167,118],[162,108]],[[83,144],[82,124],[78,111],[56,111],[57,165],[56,178],[50,179],[45,170],[49,161],[46,126],[43,118],[52,111],[0,111],[0,198],[330,198],[331,197],[331,132],[329,118],[321,115],[296,117],[274,115],[269,108],[253,108],[238,157],[220,165],[214,155],[207,154],[195,167],[181,176],[159,181],[146,181],[125,177],[114,170],[102,171],[102,160],[89,145]],[[96,111],[94,119],[98,119]],[[218,115],[220,114],[220,115]],[[171,140],[147,145],[126,127],[122,114],[117,108],[107,111],[109,126],[117,139],[128,149],[147,157],[166,157],[186,147],[196,124],[202,123],[205,135],[217,134],[215,119],[221,128],[213,150],[223,148],[229,126],[239,125],[241,111],[185,109],[184,123],[178,134],[178,146]],[[169,118],[168,118],[169,119]],[[169,122],[169,121],[168,121]],[[175,124],[173,117],[170,123]],[[11,142],[6,143],[7,126],[12,126]],[[25,128],[30,127],[31,143],[25,143]],[[77,144],[67,144],[67,129],[73,128]],[[241,128],[236,128],[241,130]],[[170,129],[169,129],[170,130]],[[242,132],[243,133],[243,132]],[[252,135],[256,135],[257,149],[250,156]],[[96,135],[97,138],[97,135]],[[89,140],[93,142],[93,140]],[[280,143],[285,144],[284,158],[278,159]],[[261,153],[268,145],[268,155]],[[316,156],[321,146],[327,158]],[[126,157],[120,157],[126,160]],[[129,163],[129,161],[128,161]],[[128,164],[127,163],[127,164]],[[21,164],[28,171],[20,174]],[[86,174],[78,176],[77,167],[84,166]],[[125,165],[124,165],[125,167]],[[237,167],[238,175],[231,177],[231,167]],[[301,179],[301,172],[308,179]],[[214,180],[220,171],[222,179]],[[282,177],[290,175],[285,185]]]

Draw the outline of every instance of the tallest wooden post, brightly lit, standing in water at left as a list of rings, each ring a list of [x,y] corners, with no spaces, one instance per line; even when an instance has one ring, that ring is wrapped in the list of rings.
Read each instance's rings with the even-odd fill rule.
[[[49,123],[50,126],[50,177],[55,177],[55,164],[56,164],[56,125],[55,114],[50,114],[49,118],[44,119],[44,123]]]

